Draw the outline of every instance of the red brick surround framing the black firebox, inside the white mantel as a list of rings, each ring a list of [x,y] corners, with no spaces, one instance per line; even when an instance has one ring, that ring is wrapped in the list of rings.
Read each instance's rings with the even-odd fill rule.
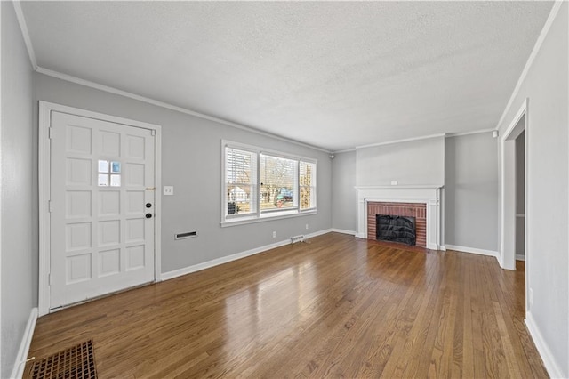
[[[425,203],[367,203],[367,238],[375,239],[375,215],[405,216],[415,218],[415,246],[427,246],[427,205]]]

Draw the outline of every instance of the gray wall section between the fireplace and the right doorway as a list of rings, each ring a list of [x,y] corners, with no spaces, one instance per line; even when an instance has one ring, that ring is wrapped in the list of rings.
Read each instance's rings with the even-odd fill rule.
[[[497,143],[492,133],[446,138],[446,245],[498,250]]]

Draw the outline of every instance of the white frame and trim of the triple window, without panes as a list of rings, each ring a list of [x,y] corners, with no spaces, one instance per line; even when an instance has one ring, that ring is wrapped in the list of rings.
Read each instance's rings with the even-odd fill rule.
[[[254,193],[254,202],[256,212],[248,213],[248,214],[228,214],[228,176],[227,176],[227,150],[226,149],[237,149],[247,151],[249,153],[255,154],[256,158],[254,159],[254,164],[256,167],[252,167],[252,172],[255,174],[256,182],[252,183],[252,187],[255,189]],[[284,158],[290,159],[295,161],[296,169],[294,171],[295,177],[293,178],[294,186],[293,192],[296,196],[294,199],[294,206],[287,207],[284,209],[268,209],[268,210],[261,210],[261,195],[260,195],[260,157],[264,155],[266,157],[276,157],[276,158]],[[305,162],[311,165],[314,165],[314,205],[306,208],[301,209],[301,163]],[[262,149],[257,146],[244,144],[241,142],[235,141],[226,141],[221,140],[221,226],[231,226],[231,225],[238,225],[244,223],[252,223],[252,222],[263,222],[268,220],[275,220],[275,219],[283,219],[289,217],[297,217],[306,214],[317,214],[317,159],[310,158],[310,157],[302,157],[293,154],[286,154],[281,151],[271,150],[271,149]],[[312,198],[311,198],[312,199]]]

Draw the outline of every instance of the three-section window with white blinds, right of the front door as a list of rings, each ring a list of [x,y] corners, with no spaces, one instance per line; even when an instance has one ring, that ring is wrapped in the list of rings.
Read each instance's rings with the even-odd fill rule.
[[[224,222],[317,210],[317,161],[223,141]]]

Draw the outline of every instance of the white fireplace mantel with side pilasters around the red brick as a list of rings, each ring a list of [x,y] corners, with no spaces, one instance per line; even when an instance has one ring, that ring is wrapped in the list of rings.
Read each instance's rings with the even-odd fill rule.
[[[442,185],[365,186],[357,189],[357,238],[367,238],[367,203],[423,203],[427,206],[427,248],[441,248]]]

